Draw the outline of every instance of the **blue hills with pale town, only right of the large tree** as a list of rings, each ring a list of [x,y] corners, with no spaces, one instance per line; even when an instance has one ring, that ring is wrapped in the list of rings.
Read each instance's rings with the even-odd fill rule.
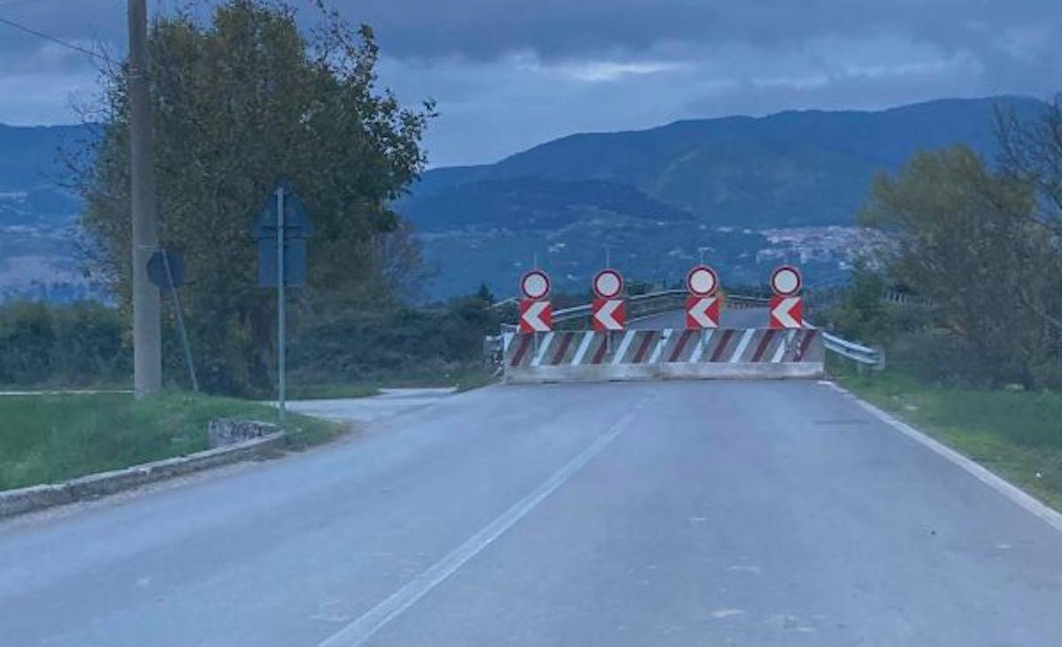
[[[732,283],[761,281],[780,260],[803,264],[811,281],[838,281],[853,255],[874,242],[852,227],[874,173],[897,169],[920,150],[960,142],[991,159],[997,105],[1021,115],[1043,108],[1027,98],[946,99],[578,134],[494,164],[431,170],[397,207],[425,232],[426,256],[449,292],[482,279],[511,294],[533,253],[562,287],[581,290],[606,246],[622,259],[617,265],[648,280],[678,280],[706,247]],[[512,185],[547,180],[548,198]],[[644,196],[641,204],[690,220],[663,226],[622,200],[605,206],[603,197],[596,206],[582,200],[578,213],[585,217],[558,207],[554,191],[575,193],[587,181],[623,187],[626,195]],[[512,189],[508,199],[503,186]],[[589,217],[610,212],[607,222]],[[465,248],[477,250],[475,261],[459,252]]]

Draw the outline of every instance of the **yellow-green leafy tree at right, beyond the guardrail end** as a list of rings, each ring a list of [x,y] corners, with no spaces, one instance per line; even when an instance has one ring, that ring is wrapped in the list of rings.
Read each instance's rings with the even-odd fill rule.
[[[861,215],[897,235],[890,272],[933,303],[969,346],[969,366],[1027,386],[1057,364],[1059,342],[1037,313],[1059,281],[1046,272],[1057,246],[1030,222],[1033,208],[1028,182],[959,145],[915,155],[895,178],[879,174]]]

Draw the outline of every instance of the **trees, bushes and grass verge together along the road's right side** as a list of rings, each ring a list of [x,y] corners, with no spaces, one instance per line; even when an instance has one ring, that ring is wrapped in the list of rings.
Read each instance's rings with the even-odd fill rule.
[[[956,146],[877,178],[862,222],[896,246],[815,317],[886,352],[880,372],[830,357],[843,385],[1062,510],[1062,95],[997,133],[998,159]]]

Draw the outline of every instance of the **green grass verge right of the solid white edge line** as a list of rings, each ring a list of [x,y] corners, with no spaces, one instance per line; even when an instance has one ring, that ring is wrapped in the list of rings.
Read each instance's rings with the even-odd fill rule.
[[[1062,510],[1062,394],[926,384],[894,371],[838,382]]]

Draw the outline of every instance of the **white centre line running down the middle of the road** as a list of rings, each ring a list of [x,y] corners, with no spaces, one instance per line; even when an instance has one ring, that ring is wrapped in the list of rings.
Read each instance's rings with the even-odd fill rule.
[[[633,418],[633,413],[624,415],[619,421],[609,427],[607,432],[592,442],[564,467],[554,472],[552,476],[535,488],[530,494],[516,502],[513,507],[502,512],[500,517],[484,526],[479,532],[469,537],[463,544],[455,548],[452,553],[435,562],[435,564],[421,575],[417,575],[405,587],[392,593],[379,605],[376,605],[361,617],[320,643],[318,647],[358,647],[364,644],[365,641],[371,639],[384,625],[415,605],[417,600],[430,593],[432,589],[453,575],[465,562],[479,555],[483,548],[491,545],[506,530],[524,519],[528,512],[564,485],[576,472],[597,456],[601,450],[609,447],[609,443],[615,440],[616,436],[619,436]]]

